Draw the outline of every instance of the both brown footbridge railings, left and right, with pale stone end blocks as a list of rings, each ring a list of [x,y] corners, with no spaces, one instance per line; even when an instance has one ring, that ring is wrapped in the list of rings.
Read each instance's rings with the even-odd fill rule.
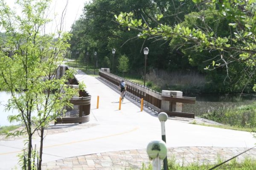
[[[65,74],[65,70],[68,66],[61,65],[57,71],[57,77],[61,77]],[[123,79],[114,74],[109,73],[109,69],[102,68],[99,70],[99,76],[101,80],[107,84],[118,89],[119,84]],[[196,102],[195,97],[184,97],[180,91],[167,91],[163,90],[164,93],[158,93],[152,89],[136,84],[129,80],[126,82],[126,94],[136,99],[141,105],[145,105],[155,112],[165,112],[168,116],[173,117],[186,117],[195,118],[194,113],[190,113],[191,107]],[[74,78],[70,81],[70,84],[78,85],[79,81]],[[86,82],[85,82],[86,84]],[[142,100],[143,99],[143,100]],[[72,108],[67,107],[67,112],[60,115],[56,119],[58,123],[84,123],[89,121],[90,116],[90,102],[91,96],[87,91],[81,91],[78,97],[73,97],[70,101],[74,106]],[[121,107],[121,103],[120,103]]]

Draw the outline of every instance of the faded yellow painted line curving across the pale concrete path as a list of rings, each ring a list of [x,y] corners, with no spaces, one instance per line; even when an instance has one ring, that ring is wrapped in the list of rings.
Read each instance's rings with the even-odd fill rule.
[[[55,146],[62,146],[62,145],[74,144],[74,143],[85,142],[85,141],[90,141],[90,140],[103,139],[103,138],[123,135],[123,134],[130,133],[130,132],[133,132],[133,131],[138,130],[138,129],[139,129],[138,127],[135,127],[135,128],[133,128],[131,130],[128,130],[128,131],[125,131],[125,132],[116,133],[116,134],[113,134],[113,135],[95,137],[95,138],[85,139],[85,140],[77,140],[77,141],[72,141],[72,142],[67,142],[67,143],[62,143],[62,144],[54,144],[54,145],[44,146],[43,148],[51,148],[51,147],[55,147]],[[22,150],[20,150],[20,151],[13,151],[13,152],[5,152],[5,153],[0,153],[0,155],[7,155],[7,154],[11,154],[11,153],[18,153],[18,152],[21,152],[21,151]]]

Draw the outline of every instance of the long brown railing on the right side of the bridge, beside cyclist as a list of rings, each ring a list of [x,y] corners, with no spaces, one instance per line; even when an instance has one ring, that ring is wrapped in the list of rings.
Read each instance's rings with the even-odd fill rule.
[[[125,80],[122,77],[118,77],[102,70],[99,71],[99,76],[117,88],[120,82]],[[166,112],[169,116],[176,117],[195,117],[194,113],[189,112],[196,102],[195,97],[167,96],[129,80],[125,80],[125,82],[126,92],[129,95],[138,101],[143,98],[144,104],[156,112]]]

